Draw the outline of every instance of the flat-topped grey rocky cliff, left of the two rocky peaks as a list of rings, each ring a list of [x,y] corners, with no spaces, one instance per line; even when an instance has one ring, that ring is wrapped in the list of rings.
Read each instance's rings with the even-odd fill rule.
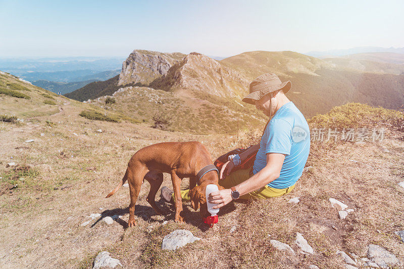
[[[163,53],[149,50],[135,49],[122,64],[118,85],[149,84],[181,61],[185,57],[179,52]]]

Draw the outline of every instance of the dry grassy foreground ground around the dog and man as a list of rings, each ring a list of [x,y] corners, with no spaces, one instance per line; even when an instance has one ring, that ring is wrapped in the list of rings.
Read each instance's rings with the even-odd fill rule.
[[[255,143],[261,131],[240,131],[238,137],[165,132],[148,124],[91,121],[78,116],[83,104],[58,103],[62,112],[54,116],[38,117],[21,126],[3,123],[0,128],[1,186],[18,184],[0,196],[4,267],[90,268],[95,255],[108,250],[125,268],[307,268],[310,264],[338,268],[343,263],[337,250],[364,256],[370,243],[390,250],[404,264],[404,244],[393,233],[404,230],[404,191],[397,185],[404,175],[402,141],[312,144],[307,166],[313,169],[302,175],[290,194],[231,203],[220,211],[213,229],[201,224],[189,203],[184,203],[184,225],[173,222],[174,208],[160,197],[158,204],[168,214],[156,216],[145,201],[146,182],[136,205],[138,226],[127,229],[128,189],[104,197],[122,178],[136,150],[162,141],[196,140],[215,158],[237,145]],[[25,143],[27,139],[35,141]],[[11,160],[29,165],[35,173],[5,168]],[[171,186],[168,175],[163,186]],[[183,180],[182,187],[186,186]],[[287,203],[292,197],[301,197],[300,203]],[[339,220],[329,197],[345,202],[355,212]],[[122,220],[108,226],[94,219],[81,227],[90,220],[90,213],[119,214]],[[165,220],[169,223],[162,226]],[[233,225],[237,229],[230,234]],[[203,240],[177,251],[162,250],[163,237],[175,229],[188,229]],[[296,232],[304,235],[315,255],[293,257],[269,244],[276,239],[298,253],[293,243]]]

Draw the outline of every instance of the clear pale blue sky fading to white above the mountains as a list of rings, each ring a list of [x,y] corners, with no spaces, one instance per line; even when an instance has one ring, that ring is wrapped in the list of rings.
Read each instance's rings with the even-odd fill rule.
[[[402,0],[0,0],[0,57],[403,47],[402,14]]]

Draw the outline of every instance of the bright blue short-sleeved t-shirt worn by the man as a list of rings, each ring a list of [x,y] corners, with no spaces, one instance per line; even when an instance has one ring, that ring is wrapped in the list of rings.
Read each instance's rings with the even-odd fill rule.
[[[252,171],[256,174],[267,165],[267,153],[285,154],[279,178],[268,186],[276,189],[293,186],[305,168],[309,151],[309,125],[293,102],[287,102],[267,125]]]

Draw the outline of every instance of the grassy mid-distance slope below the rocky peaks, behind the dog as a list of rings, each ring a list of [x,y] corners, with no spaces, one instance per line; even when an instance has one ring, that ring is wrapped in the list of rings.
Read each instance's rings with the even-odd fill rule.
[[[107,97],[91,101],[99,107],[105,106]],[[255,108],[241,106],[232,98],[222,99],[214,95],[184,97],[173,92],[148,87],[129,86],[114,94],[116,102],[111,111],[126,115],[149,126],[154,118],[169,118],[169,130],[190,133],[236,134],[265,123],[265,116]]]

